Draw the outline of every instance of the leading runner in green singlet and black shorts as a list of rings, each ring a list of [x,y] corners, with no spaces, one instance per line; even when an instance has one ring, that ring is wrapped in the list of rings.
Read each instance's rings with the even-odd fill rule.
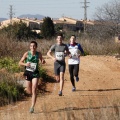
[[[36,91],[40,77],[38,70],[39,60],[42,64],[45,63],[45,60],[42,58],[42,54],[36,50],[37,42],[31,41],[30,51],[25,52],[19,61],[19,65],[25,66],[24,76],[26,78],[26,92],[32,94],[32,105],[29,110],[30,113],[34,112],[34,106],[36,103]]]

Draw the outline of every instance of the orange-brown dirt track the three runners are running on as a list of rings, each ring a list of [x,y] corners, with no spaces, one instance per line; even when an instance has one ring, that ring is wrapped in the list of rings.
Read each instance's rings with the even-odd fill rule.
[[[45,58],[44,68],[54,77],[53,61]],[[38,95],[33,114],[29,113],[29,98],[3,107],[0,120],[120,120],[120,60],[113,56],[83,56],[79,77],[72,92],[66,66],[63,96],[58,96],[59,83],[49,81],[47,94]]]

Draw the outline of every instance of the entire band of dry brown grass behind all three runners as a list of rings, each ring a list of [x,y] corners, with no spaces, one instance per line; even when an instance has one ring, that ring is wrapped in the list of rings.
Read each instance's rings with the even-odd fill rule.
[[[5,36],[0,36],[0,56],[10,56],[13,58],[20,58],[24,52],[29,50],[29,43],[25,41],[15,41],[6,38]],[[41,51],[43,55],[46,55],[50,46],[56,43],[55,39],[52,40],[36,40],[38,42],[38,51]],[[64,43],[69,43],[69,40],[64,40]],[[89,55],[114,55],[120,53],[120,44],[111,40],[94,40],[94,39],[80,39],[79,42],[86,54]]]

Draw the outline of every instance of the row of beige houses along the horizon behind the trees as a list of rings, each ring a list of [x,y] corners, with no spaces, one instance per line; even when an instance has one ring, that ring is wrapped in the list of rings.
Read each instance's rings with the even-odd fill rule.
[[[31,30],[36,31],[37,33],[41,30],[43,20],[29,19],[29,18],[13,18],[12,22],[10,20],[4,20],[0,23],[0,28],[7,27],[9,24],[14,22],[24,22]],[[53,20],[54,25],[61,26],[63,29],[68,29],[72,31],[82,31],[84,29],[84,20],[77,20],[69,17],[62,17],[57,20]],[[87,25],[93,26],[96,24],[95,21],[86,21]]]

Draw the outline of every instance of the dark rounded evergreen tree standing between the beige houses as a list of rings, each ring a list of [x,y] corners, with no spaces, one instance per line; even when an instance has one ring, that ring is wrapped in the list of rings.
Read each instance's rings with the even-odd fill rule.
[[[41,34],[44,38],[49,39],[54,36],[54,24],[50,17],[45,17],[41,27]]]

